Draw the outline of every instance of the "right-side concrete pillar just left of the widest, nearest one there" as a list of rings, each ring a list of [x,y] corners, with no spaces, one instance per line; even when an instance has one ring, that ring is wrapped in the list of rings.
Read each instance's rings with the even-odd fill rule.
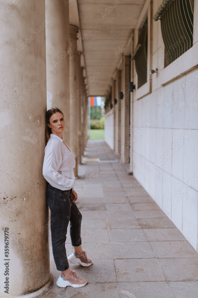
[[[121,70],[116,71],[115,83],[115,154],[121,155],[121,100],[119,100],[119,92],[121,91]]]

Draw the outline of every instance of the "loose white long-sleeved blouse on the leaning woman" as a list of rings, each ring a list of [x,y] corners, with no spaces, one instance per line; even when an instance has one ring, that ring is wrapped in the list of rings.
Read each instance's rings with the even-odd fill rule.
[[[45,147],[43,176],[51,186],[60,190],[69,190],[75,185],[73,168],[76,162],[74,153],[69,149],[59,136],[50,134]]]

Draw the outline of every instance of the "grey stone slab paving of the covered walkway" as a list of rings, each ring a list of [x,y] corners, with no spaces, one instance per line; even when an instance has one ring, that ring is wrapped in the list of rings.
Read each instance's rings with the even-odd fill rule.
[[[104,141],[88,141],[85,157],[115,156]],[[70,268],[88,283],[58,288],[60,271],[50,244],[54,285],[43,297],[197,298],[197,252],[125,167],[87,161],[79,166],[79,176],[82,248],[93,264]],[[73,252],[69,229],[66,252]]]

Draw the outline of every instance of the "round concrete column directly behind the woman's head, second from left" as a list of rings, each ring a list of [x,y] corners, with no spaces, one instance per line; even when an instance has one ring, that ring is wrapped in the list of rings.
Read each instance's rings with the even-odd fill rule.
[[[63,138],[70,146],[69,101],[69,5],[64,1],[45,1],[47,108],[57,107],[65,119]]]

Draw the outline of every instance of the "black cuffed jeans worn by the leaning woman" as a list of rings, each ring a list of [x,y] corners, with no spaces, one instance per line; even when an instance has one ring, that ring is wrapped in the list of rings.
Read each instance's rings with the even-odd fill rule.
[[[47,204],[51,212],[51,234],[52,251],[59,271],[69,268],[67,260],[65,241],[67,226],[70,221],[70,237],[72,246],[80,246],[80,227],[82,215],[72,198],[69,196],[70,190],[60,190],[47,184]]]

